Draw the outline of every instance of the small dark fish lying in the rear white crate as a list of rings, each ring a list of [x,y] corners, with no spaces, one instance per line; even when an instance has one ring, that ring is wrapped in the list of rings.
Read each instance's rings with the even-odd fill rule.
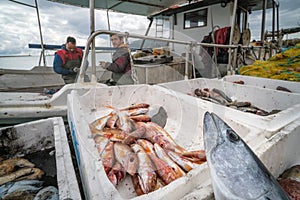
[[[280,110],[272,110],[271,112],[260,109],[251,102],[248,101],[233,101],[230,97],[228,97],[223,91],[217,88],[197,88],[194,91],[194,95],[203,100],[210,101],[216,104],[220,104],[223,106],[227,106],[230,108],[234,108],[243,112],[253,113],[261,116],[272,115],[280,112]]]

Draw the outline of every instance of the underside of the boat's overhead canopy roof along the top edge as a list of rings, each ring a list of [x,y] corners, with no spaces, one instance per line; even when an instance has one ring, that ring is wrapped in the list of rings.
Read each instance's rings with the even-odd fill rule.
[[[89,7],[89,0],[48,0],[79,7]],[[189,3],[190,2],[190,3]],[[179,12],[184,12],[193,8],[210,6],[230,0],[94,0],[96,9],[112,10],[121,13],[143,15],[154,17],[158,15],[170,16]],[[273,7],[273,2],[277,0],[267,0],[267,8]],[[238,5],[247,10],[262,10],[262,0],[238,0]]]

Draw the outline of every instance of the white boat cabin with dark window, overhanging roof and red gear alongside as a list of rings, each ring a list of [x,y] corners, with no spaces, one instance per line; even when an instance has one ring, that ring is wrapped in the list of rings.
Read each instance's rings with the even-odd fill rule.
[[[98,1],[90,2],[75,0],[53,0],[60,3],[72,4],[91,9],[91,33],[94,32],[94,13],[95,9],[106,9],[122,13],[147,16],[150,20],[146,36],[150,29],[155,30],[155,38],[167,38],[176,41],[189,41],[201,43],[205,47],[214,63],[217,63],[220,75],[234,74],[240,63],[248,64],[245,61],[247,52],[254,54],[255,59],[261,57],[263,41],[265,41],[265,21],[266,10],[272,8],[272,40],[275,41],[275,35],[278,34],[278,8],[276,0],[190,0],[190,1]],[[248,19],[253,11],[262,11],[261,43],[258,47],[250,46],[251,30],[249,29]],[[107,14],[109,17],[109,14]],[[108,19],[109,22],[109,19]],[[153,23],[155,22],[155,23]],[[277,34],[275,34],[275,24]],[[154,27],[153,27],[154,26]],[[109,28],[110,29],[110,28]],[[232,30],[232,31],[231,31]],[[129,36],[130,37],[130,36]],[[141,38],[139,38],[141,39]],[[142,38],[140,48],[144,48],[145,38]],[[200,50],[194,52],[187,51],[187,47],[172,41],[164,41],[174,55],[185,59],[194,65],[191,55],[201,54]],[[209,45],[203,45],[203,43]],[[228,46],[222,46],[228,45]],[[256,51],[254,51],[256,48]],[[274,48],[274,46],[273,46]],[[193,47],[188,47],[189,50]],[[196,53],[195,53],[196,52]],[[189,55],[187,55],[189,54]],[[257,55],[258,54],[258,55]],[[271,54],[269,54],[271,56]],[[153,59],[149,59],[153,60]],[[198,59],[199,60],[199,59]],[[188,66],[186,64],[185,66]],[[188,71],[188,70],[185,70]],[[191,76],[197,76],[197,71]],[[185,77],[189,77],[186,76]]]

